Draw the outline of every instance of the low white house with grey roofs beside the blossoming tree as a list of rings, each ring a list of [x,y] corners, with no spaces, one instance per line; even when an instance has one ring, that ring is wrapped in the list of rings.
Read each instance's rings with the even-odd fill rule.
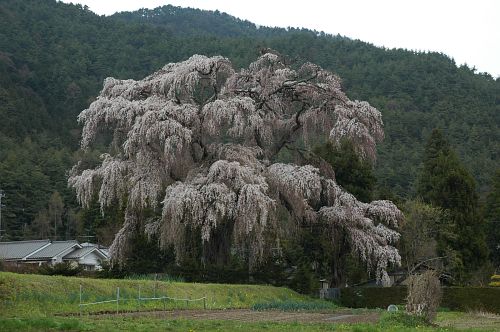
[[[0,242],[0,260],[15,264],[50,264],[74,262],[87,271],[100,270],[101,262],[109,260],[106,248],[92,243],[70,241]]]

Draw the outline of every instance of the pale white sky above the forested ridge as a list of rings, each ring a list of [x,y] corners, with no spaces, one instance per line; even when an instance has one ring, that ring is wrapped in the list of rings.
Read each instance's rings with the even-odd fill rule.
[[[498,0],[64,0],[99,15],[167,4],[218,9],[255,24],[304,27],[377,46],[438,51],[500,76]]]

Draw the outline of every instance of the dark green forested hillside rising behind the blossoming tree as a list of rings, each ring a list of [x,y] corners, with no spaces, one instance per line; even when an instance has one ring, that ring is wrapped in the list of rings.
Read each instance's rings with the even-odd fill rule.
[[[79,212],[67,188],[78,154],[76,116],[104,78],[139,79],[192,54],[247,66],[263,48],[337,73],[351,99],[383,114],[378,187],[415,193],[423,146],[439,127],[482,193],[500,160],[500,80],[438,53],[388,50],[310,30],[256,27],[219,12],[165,6],[100,17],[56,1],[0,3],[0,189],[8,238],[94,234],[98,208]],[[59,202],[57,195],[62,197]],[[63,204],[61,207],[61,203]],[[61,213],[58,213],[58,209]],[[45,235],[45,234],[43,234]],[[48,234],[50,235],[50,234]]]

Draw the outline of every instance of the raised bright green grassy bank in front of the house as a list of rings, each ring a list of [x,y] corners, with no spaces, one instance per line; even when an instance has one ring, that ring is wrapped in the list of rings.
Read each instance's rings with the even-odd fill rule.
[[[309,298],[284,287],[261,285],[201,284],[142,279],[90,279],[42,276],[0,272],[0,316],[26,314],[41,316],[79,312],[80,285],[82,302],[116,299],[120,288],[121,311],[160,310],[163,308],[203,308],[203,301],[138,301],[141,297],[206,297],[207,309],[251,308],[256,303],[272,301],[307,302]],[[116,304],[99,304],[83,309],[87,312],[115,311]]]

